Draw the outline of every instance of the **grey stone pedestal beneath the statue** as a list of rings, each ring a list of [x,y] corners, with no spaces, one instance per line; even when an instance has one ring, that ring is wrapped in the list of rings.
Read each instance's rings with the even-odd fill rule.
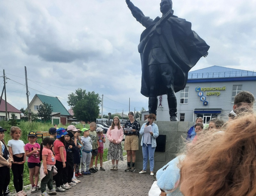
[[[142,126],[145,121],[139,121]],[[193,126],[193,122],[183,121],[155,121],[159,129],[159,135],[166,135],[165,152],[155,152],[155,167],[156,172],[166,163],[174,159],[181,147],[184,146],[184,139],[187,137],[188,129]],[[182,139],[183,137],[183,139]],[[139,150],[136,151],[136,170],[140,171],[143,168],[142,147],[140,146],[142,136],[139,138]],[[149,171],[149,161],[147,170]]]

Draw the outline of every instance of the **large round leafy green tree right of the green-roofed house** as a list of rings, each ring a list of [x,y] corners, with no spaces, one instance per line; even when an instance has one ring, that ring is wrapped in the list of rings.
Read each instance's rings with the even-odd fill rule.
[[[75,93],[68,95],[68,105],[73,108],[75,117],[79,121],[95,121],[100,113],[100,103],[100,96],[94,91],[86,93],[85,90],[78,88]]]

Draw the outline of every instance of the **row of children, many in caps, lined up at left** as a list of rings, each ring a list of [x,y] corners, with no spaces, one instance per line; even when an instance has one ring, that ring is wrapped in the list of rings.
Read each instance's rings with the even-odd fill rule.
[[[67,129],[52,127],[49,129],[50,137],[45,137],[41,145],[37,143],[36,132],[29,132],[28,143],[25,145],[20,140],[21,129],[12,126],[10,130],[12,139],[6,145],[4,142],[6,129],[0,127],[0,196],[9,195],[10,168],[16,195],[27,195],[23,191],[26,157],[28,157],[29,180],[32,185],[31,193],[38,191],[40,173],[42,196],[65,192],[80,182],[76,177],[97,172],[99,156],[100,170],[105,171],[102,162],[103,143],[106,137],[102,128],[98,127],[96,131],[95,129],[94,122],[90,124],[90,129],[82,130],[76,129],[74,125],[69,125]],[[80,138],[81,133],[83,136]],[[93,168],[95,156],[95,168]],[[56,183],[56,189],[53,188],[53,181]],[[48,192],[46,192],[46,186],[49,188]]]

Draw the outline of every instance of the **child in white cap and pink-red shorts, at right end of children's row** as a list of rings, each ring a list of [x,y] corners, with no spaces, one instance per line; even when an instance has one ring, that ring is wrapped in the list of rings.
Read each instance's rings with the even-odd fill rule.
[[[98,171],[98,158],[100,155],[100,170],[105,171],[105,169],[102,167],[103,164],[103,149],[104,149],[104,143],[106,142],[106,136],[103,134],[103,129],[101,127],[97,127],[96,129],[98,138],[99,138],[99,147],[98,147],[98,154],[95,157],[95,170]]]

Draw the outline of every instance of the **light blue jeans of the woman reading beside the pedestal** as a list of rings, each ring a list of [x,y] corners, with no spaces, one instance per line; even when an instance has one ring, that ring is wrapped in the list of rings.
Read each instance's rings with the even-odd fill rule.
[[[155,154],[156,147],[152,148],[151,144],[143,143],[142,146],[142,155],[143,155],[143,170],[147,170],[148,165],[148,157],[149,157],[149,165],[150,165],[150,171],[154,170],[154,154]]]

